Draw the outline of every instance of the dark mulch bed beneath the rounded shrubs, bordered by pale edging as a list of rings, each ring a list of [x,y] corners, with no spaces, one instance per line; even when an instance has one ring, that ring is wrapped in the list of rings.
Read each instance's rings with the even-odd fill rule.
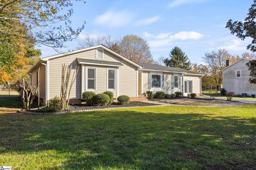
[[[161,104],[152,104],[152,103],[146,103],[141,101],[131,101],[129,104],[119,104],[119,103],[113,103],[108,106],[86,106],[83,104],[77,104],[77,105],[70,105],[69,111],[58,111],[58,112],[42,112],[38,111],[37,109],[32,109],[30,111],[19,111],[19,113],[24,114],[61,114],[61,113],[75,113],[75,112],[86,112],[86,111],[97,111],[100,109],[110,109],[110,108],[130,108],[130,107],[150,107],[150,106],[162,106]]]

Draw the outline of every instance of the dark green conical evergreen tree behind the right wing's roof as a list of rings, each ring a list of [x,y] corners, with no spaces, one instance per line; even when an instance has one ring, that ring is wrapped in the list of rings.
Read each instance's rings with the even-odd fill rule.
[[[175,46],[170,54],[169,54],[170,58],[165,58],[164,60],[164,64],[166,66],[170,66],[170,67],[180,67],[182,69],[186,69],[186,70],[190,70],[190,61],[188,60],[188,56],[185,55],[184,52],[182,52],[182,50]]]

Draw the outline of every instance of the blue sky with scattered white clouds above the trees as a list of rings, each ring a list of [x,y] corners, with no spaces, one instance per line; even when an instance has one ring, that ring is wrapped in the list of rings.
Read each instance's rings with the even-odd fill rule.
[[[229,19],[243,20],[253,0],[170,0],[170,1],[92,1],[75,2],[71,18],[74,27],[86,21],[76,40],[66,43],[61,52],[74,50],[85,35],[138,35],[148,41],[155,60],[180,47],[193,63],[211,50],[225,48],[241,55],[250,39],[239,40],[226,29]],[[42,57],[56,54],[45,46]]]

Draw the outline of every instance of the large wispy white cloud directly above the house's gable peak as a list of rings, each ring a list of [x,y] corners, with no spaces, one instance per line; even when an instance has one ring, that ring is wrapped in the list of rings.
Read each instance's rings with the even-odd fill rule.
[[[134,15],[126,10],[124,11],[107,11],[94,19],[94,23],[106,25],[110,28],[119,28],[129,24]]]

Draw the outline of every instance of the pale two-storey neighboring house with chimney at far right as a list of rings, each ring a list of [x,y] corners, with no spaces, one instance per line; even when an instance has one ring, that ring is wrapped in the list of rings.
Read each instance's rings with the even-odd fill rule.
[[[242,58],[237,62],[229,65],[229,60],[226,61],[226,68],[223,73],[223,88],[227,91],[233,91],[235,95],[252,95],[256,94],[256,84],[249,82],[250,71],[246,66],[249,60]]]

